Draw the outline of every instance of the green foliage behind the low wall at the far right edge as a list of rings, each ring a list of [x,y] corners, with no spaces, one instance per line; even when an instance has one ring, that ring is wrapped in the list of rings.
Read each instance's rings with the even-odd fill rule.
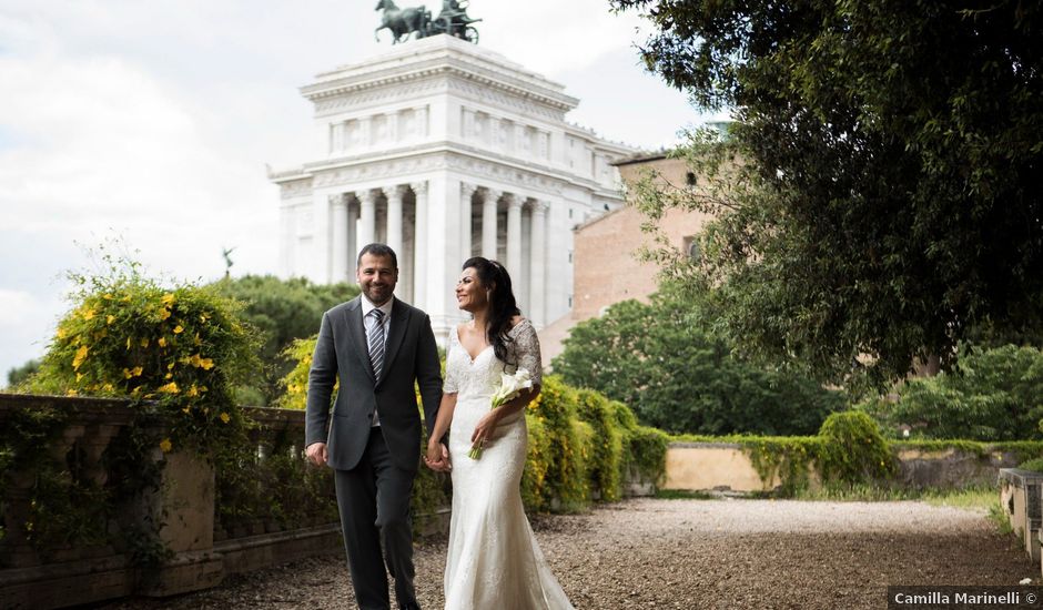
[[[910,379],[895,404],[865,408],[895,434],[902,424],[923,438],[1043,439],[1043,352],[1035,347],[972,347],[955,367]]]

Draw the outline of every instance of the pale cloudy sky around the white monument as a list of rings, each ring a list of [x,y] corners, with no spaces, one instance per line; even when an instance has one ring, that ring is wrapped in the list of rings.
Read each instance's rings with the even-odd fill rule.
[[[413,4],[416,2],[401,2]],[[437,4],[428,0],[428,4]],[[0,0],[0,386],[47,346],[84,246],[155,274],[275,273],[265,164],[313,156],[297,88],[388,49],[373,0]],[[573,122],[647,149],[705,118],[640,68],[607,0],[472,0],[482,45],[566,85]]]

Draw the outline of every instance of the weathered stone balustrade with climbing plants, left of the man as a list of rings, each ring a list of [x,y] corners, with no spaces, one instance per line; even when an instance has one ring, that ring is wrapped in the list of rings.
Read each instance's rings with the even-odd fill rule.
[[[230,485],[203,457],[164,454],[159,447],[145,451],[149,464],[128,470],[120,455],[129,433],[144,427],[162,437],[165,426],[128,401],[0,394],[0,429],[14,435],[7,438],[24,440],[14,457],[32,457],[11,462],[12,456],[0,455],[0,608],[169,596],[213,587],[232,573],[340,552],[331,477],[320,478],[315,469],[312,475],[318,475],[310,482],[313,495],[328,502],[302,507],[307,498],[280,497],[295,492],[281,477],[306,477],[307,466],[298,459],[303,416],[247,409],[257,424],[249,433],[256,455],[242,461],[242,476]],[[33,443],[47,446],[26,449]],[[151,467],[158,469],[156,485],[121,495],[120,489],[134,488],[122,479]],[[244,487],[244,477],[264,500],[253,508],[230,497]],[[67,511],[41,512],[33,498],[43,492],[59,506],[62,494],[74,504]],[[221,501],[246,509],[224,510]],[[256,506],[284,508],[273,516]],[[72,518],[78,521],[67,522]],[[49,538],[59,525],[67,539]]]

